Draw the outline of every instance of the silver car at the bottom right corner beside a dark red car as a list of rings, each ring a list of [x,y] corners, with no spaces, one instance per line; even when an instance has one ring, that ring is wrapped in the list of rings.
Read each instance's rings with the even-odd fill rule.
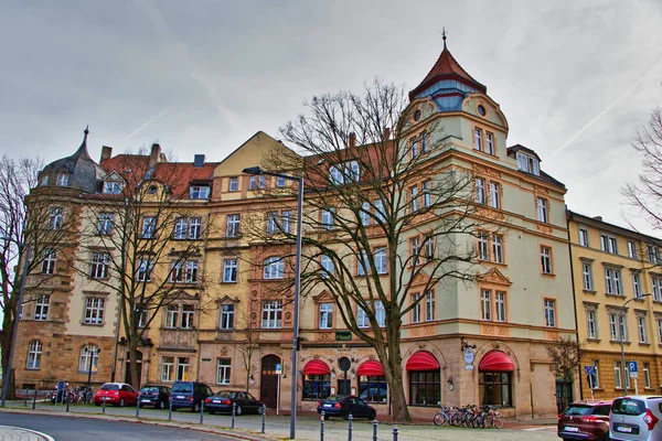
[[[662,441],[662,397],[636,395],[611,404],[609,438],[612,441]]]

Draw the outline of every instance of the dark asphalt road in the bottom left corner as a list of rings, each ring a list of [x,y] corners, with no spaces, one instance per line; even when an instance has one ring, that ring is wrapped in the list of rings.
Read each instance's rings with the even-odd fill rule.
[[[200,440],[236,441],[236,439],[190,429],[137,424],[87,418],[0,412],[0,424],[38,430],[55,441],[115,441],[115,440]],[[12,439],[12,438],[9,438]],[[14,438],[29,440],[29,438]],[[34,438],[36,440],[38,438]]]

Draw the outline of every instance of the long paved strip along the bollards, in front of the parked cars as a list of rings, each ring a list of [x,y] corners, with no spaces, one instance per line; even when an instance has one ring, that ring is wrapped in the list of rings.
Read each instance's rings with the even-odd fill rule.
[[[23,408],[22,402],[12,404],[17,408]],[[24,409],[24,408],[23,408]],[[94,406],[72,406],[72,412],[79,416],[95,418],[122,418],[122,422],[129,429],[128,433],[135,435],[130,428],[147,424],[132,424],[129,421],[136,421],[136,408],[116,408],[108,407],[106,415],[102,415],[102,409]],[[29,411],[29,410],[26,410]],[[39,405],[38,411],[49,412],[56,416],[66,416],[64,407],[52,406],[49,404]],[[82,419],[84,420],[84,419]],[[168,410],[140,409],[140,421],[142,422],[164,422],[168,420]],[[1,421],[1,420],[0,420]],[[270,439],[289,438],[289,416],[266,417],[266,437]],[[172,422],[179,424],[200,426],[200,415],[186,410],[178,410],[172,413]],[[1,422],[0,422],[1,423]],[[231,430],[232,419],[225,415],[204,415],[204,424],[202,427],[211,430],[225,431],[242,438],[259,438],[261,429],[261,417],[255,415],[243,415],[235,420],[235,430]],[[372,441],[373,426],[370,421],[355,420],[352,428],[353,441]],[[393,424],[382,422],[377,427],[378,441],[392,441]],[[130,438],[134,439],[134,438]],[[161,439],[160,437],[158,439]],[[195,439],[195,438],[193,438]],[[320,439],[320,419],[319,417],[299,416],[297,419],[297,440],[319,441]],[[346,441],[348,421],[331,419],[324,423],[324,441]],[[100,440],[100,439],[99,439]],[[429,424],[398,426],[398,441],[468,441],[468,440],[490,440],[490,441],[557,441],[555,427],[517,427],[513,429],[460,429],[460,428],[438,428],[431,422]],[[60,439],[57,441],[61,441]],[[86,438],[89,441],[89,438]],[[95,440],[97,441],[97,440]]]

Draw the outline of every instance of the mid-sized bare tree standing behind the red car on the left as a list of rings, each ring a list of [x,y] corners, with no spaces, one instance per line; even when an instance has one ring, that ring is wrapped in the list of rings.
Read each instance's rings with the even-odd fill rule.
[[[73,265],[89,283],[117,294],[134,386],[139,381],[138,347],[149,344],[149,325],[175,301],[200,303],[204,284],[206,227],[194,201],[185,201],[188,186],[179,171],[177,163],[126,154],[115,161],[116,176],[108,178],[116,180],[116,194],[89,195],[85,202],[82,240],[87,252]],[[184,323],[191,318],[182,313],[173,320],[193,327]]]

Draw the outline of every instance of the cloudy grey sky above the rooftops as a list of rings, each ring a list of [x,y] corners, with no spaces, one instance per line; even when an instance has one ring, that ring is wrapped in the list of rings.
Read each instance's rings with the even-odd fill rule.
[[[631,147],[662,105],[662,1],[0,0],[0,154],[159,142],[221,161],[319,94],[413,89],[442,49],[488,87],[509,146],[535,150],[573,211],[633,222]]]

